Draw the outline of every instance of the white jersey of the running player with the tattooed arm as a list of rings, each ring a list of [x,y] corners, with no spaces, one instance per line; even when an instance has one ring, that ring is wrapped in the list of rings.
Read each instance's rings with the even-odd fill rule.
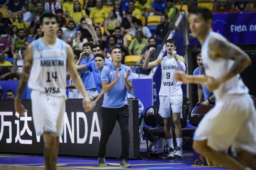
[[[202,45],[202,61],[204,63],[204,68],[207,76],[218,79],[228,71],[230,71],[234,61],[231,59],[223,59],[220,61],[212,60],[208,55],[208,44],[212,36],[222,36],[216,32],[210,32]],[[236,75],[231,79],[223,82],[220,87],[214,90],[214,95],[216,99],[220,99],[222,96],[227,94],[244,94],[248,93],[248,88],[244,85],[240,75]]]

